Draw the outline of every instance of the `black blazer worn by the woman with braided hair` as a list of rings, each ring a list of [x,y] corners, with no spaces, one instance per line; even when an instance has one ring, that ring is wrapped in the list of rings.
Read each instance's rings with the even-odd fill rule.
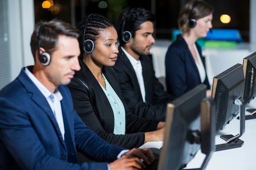
[[[108,98],[87,65],[81,60],[79,62],[81,70],[76,72],[75,77],[67,86],[70,89],[74,107],[82,121],[110,144],[128,149],[143,145],[144,132],[157,130],[159,122],[134,116],[123,101],[115,72],[112,68],[103,66],[102,73],[124,104],[125,131],[129,133],[127,135],[113,134],[114,114]]]

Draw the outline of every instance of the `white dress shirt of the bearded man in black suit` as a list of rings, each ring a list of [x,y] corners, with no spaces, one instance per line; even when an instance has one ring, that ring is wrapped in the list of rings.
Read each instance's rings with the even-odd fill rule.
[[[146,96],[146,94],[145,94],[145,85],[144,85],[144,79],[143,79],[143,75],[142,75],[141,62],[140,62],[140,60],[137,61],[136,59],[134,59],[134,57],[132,57],[127,51],[125,51],[124,48],[122,48],[122,50],[124,51],[125,55],[130,60],[131,65],[134,68],[137,80],[138,80],[139,85],[140,85],[140,93],[141,93],[143,102],[146,102],[146,99],[145,99],[145,96]]]

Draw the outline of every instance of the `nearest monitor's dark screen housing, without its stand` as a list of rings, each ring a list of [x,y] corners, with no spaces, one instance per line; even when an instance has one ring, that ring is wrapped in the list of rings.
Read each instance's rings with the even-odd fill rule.
[[[163,148],[159,170],[181,170],[200,149],[192,142],[201,131],[201,101],[206,97],[206,85],[198,85],[167,105]]]

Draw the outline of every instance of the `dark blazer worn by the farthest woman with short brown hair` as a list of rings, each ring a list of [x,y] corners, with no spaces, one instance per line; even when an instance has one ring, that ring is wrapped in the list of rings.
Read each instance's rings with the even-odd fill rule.
[[[204,63],[201,47],[197,43],[195,43],[195,45],[202,62]],[[177,36],[177,40],[172,42],[168,48],[165,65],[166,87],[170,94],[179,97],[192,88],[195,88],[195,86],[201,84],[195,60],[189,51],[186,41],[180,34]],[[207,85],[207,89],[210,89],[207,74],[204,84]]]

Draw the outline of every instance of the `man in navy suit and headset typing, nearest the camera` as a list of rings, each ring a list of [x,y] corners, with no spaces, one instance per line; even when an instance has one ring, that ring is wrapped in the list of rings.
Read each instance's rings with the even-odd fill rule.
[[[74,110],[65,85],[80,70],[79,35],[59,20],[36,24],[30,43],[35,65],[0,91],[0,168],[141,169],[140,159],[153,161],[150,150],[108,144]],[[80,164],[76,149],[102,163]]]

